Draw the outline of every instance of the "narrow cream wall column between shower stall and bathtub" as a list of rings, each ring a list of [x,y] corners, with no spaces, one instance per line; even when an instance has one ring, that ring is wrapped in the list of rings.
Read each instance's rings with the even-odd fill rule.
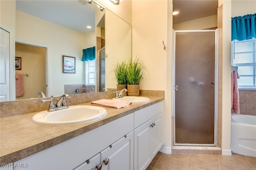
[[[219,1],[223,4],[223,69],[222,69],[222,154],[230,155],[231,127],[231,0]]]

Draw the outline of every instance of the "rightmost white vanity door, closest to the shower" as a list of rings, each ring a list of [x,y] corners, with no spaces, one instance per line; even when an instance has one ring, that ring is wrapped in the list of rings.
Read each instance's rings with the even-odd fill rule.
[[[162,113],[158,114],[156,117],[152,119],[154,123],[154,127],[152,130],[152,158],[156,156],[157,152],[163,145],[163,118]]]

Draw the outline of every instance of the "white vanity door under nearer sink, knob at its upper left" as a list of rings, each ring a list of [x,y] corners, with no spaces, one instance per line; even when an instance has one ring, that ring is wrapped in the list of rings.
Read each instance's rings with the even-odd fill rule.
[[[102,170],[133,169],[133,132],[101,152]]]

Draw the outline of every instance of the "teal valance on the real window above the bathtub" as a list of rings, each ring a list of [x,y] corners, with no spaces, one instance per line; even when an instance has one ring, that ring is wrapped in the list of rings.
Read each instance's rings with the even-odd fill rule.
[[[231,18],[231,40],[256,38],[256,13]]]

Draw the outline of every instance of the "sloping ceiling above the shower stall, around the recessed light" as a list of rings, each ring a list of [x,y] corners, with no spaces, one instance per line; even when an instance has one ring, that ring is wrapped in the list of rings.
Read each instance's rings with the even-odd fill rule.
[[[173,23],[203,18],[217,14],[218,0],[173,0],[173,10],[180,14],[173,16]]]

